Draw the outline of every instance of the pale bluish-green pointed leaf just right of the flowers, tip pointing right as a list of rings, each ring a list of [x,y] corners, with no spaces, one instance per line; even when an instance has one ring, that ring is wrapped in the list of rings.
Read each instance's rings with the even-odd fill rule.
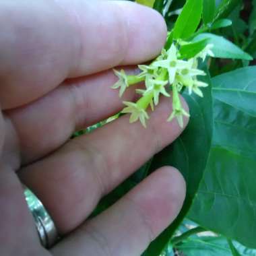
[[[248,53],[245,53],[238,46],[232,42],[226,40],[223,36],[216,36],[215,34],[202,33],[193,38],[193,41],[203,40],[207,38],[209,44],[213,44],[212,52],[216,58],[224,59],[245,59],[251,61],[253,57]]]

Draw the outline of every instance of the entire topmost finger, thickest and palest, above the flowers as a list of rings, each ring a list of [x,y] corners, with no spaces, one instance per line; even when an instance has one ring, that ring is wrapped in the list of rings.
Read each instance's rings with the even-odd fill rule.
[[[166,37],[156,11],[129,1],[1,1],[0,102],[36,100],[67,77],[141,63]],[[142,26],[141,26],[142,24]]]

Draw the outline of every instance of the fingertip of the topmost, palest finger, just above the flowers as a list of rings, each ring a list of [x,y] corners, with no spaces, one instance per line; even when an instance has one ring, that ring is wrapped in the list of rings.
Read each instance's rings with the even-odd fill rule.
[[[122,64],[141,63],[160,54],[166,42],[167,27],[158,11],[132,3],[118,1],[126,16],[129,49]]]

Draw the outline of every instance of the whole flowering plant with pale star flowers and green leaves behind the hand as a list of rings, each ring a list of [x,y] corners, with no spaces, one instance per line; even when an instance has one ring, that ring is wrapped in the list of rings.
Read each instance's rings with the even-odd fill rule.
[[[115,70],[119,79],[113,88],[119,96],[133,86],[139,94],[137,102],[123,102],[121,112],[130,115],[130,123],[140,121],[146,127],[150,111],[164,96],[172,102],[167,121],[177,119],[182,127],[183,118],[191,117],[177,141],[110,193],[98,209],[156,168],[175,166],[187,182],[183,209],[143,255],[172,255],[177,250],[201,255],[202,245],[206,256],[213,251],[237,256],[242,249],[247,255],[241,243],[256,248],[256,1],[136,1],[164,15],[169,32],[160,56],[139,65],[139,74]],[[137,89],[137,84],[144,87]],[[197,236],[202,230],[218,233],[218,239]],[[193,239],[188,238],[191,234]]]

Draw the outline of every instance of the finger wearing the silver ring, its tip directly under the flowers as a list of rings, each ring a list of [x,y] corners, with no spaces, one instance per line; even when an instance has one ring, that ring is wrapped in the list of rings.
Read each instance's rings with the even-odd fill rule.
[[[129,124],[127,116],[121,117],[69,141],[49,158],[20,173],[22,181],[49,209],[60,232],[81,224],[100,197],[181,134],[176,120],[166,122],[169,101],[163,100],[152,113],[147,129],[140,123]]]

